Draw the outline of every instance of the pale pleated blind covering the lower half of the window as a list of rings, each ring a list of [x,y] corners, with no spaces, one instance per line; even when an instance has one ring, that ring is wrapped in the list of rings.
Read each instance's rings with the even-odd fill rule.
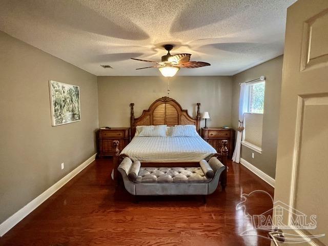
[[[244,117],[244,141],[261,148],[263,114],[245,113]]]

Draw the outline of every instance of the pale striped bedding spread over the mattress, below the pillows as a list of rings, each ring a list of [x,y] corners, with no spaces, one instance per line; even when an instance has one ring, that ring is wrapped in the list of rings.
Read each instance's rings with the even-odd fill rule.
[[[140,161],[200,161],[216,150],[197,137],[134,137],[121,152]]]

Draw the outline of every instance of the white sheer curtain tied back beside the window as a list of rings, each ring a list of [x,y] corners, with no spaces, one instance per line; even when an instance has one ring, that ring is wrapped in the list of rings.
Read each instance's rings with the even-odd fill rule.
[[[238,132],[237,132],[237,140],[234,154],[232,156],[232,160],[239,163],[240,160],[240,145],[241,145],[241,137],[243,127],[243,119],[244,119],[244,96],[245,96],[245,83],[240,84],[240,96],[239,96],[239,117],[238,117]]]

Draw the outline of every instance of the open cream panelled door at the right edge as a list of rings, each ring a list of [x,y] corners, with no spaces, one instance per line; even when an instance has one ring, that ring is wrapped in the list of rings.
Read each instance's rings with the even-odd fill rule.
[[[280,107],[273,220],[283,245],[328,245],[328,0],[288,8]]]

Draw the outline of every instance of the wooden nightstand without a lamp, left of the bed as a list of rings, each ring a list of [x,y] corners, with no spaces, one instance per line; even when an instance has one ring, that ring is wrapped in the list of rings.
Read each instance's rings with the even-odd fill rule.
[[[97,132],[97,157],[113,156],[113,141],[119,141],[121,151],[130,142],[130,128],[99,129]]]

